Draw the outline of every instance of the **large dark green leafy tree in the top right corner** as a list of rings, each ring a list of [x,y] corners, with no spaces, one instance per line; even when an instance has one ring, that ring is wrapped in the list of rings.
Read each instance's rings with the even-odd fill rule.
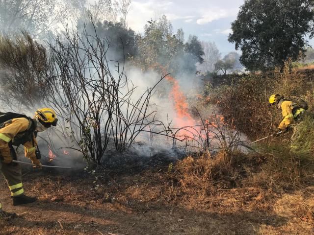
[[[303,56],[305,36],[314,36],[313,7],[313,0],[245,1],[228,38],[241,49],[241,63],[249,70],[265,70]]]

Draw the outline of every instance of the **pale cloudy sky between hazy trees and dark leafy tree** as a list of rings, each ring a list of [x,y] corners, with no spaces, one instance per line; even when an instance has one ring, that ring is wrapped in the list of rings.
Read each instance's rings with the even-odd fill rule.
[[[185,40],[190,34],[201,41],[215,42],[222,55],[235,51],[228,42],[231,23],[244,0],[132,0],[128,26],[143,32],[147,21],[166,15],[174,33],[183,28]]]

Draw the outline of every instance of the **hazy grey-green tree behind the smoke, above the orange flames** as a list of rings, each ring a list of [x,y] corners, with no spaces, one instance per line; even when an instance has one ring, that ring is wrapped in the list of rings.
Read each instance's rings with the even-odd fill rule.
[[[148,21],[144,35],[138,40],[137,66],[147,70],[161,65],[174,75],[196,72],[196,63],[203,62],[203,48],[196,36],[190,35],[186,43],[183,39],[182,29],[173,35],[172,24],[166,16]]]

